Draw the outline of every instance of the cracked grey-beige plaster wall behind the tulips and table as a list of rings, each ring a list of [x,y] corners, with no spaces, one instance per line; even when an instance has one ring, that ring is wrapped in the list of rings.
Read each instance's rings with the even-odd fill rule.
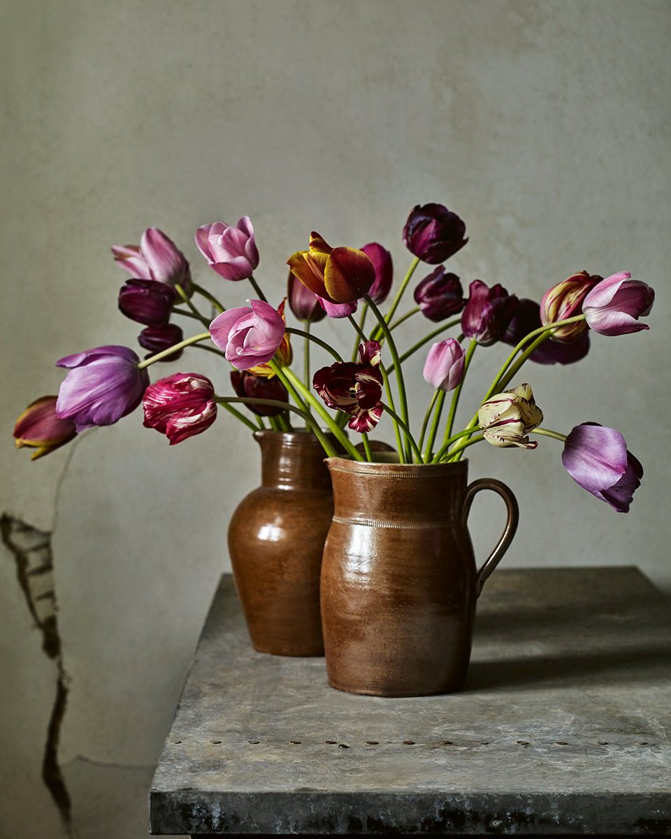
[[[403,274],[403,223],[428,201],[466,221],[471,241],[449,263],[465,286],[500,282],[538,300],[582,268],[653,285],[650,331],[597,336],[585,362],[522,378],[549,427],[622,431],[645,469],[628,516],[577,487],[552,440],[535,452],[476,446],[470,463],[471,477],[502,478],[518,495],[504,565],[638,565],[671,591],[668,2],[5,0],[0,15],[0,512],[52,534],[45,591],[55,588],[61,644],[44,654],[18,585],[38,537],[23,534],[20,550],[5,539],[0,835],[144,835],[151,768],[230,568],[226,525],[258,482],[248,430],[223,414],[173,448],[138,411],[37,463],[13,450],[18,413],[59,387],[55,360],[136,346],[109,248],[146,227],[174,238],[226,305],[242,305],[248,287],[205,265],[199,225],[251,216],[257,278],[278,301],[285,260],[313,229],[332,243],[382,242]],[[320,326],[350,346],[341,324]],[[424,331],[409,321],[403,346]],[[476,355],[465,419],[504,357]],[[415,422],[430,395],[421,363],[408,376]],[[153,378],[177,369],[228,389],[208,353]],[[390,427],[378,436],[391,439]],[[496,499],[476,503],[479,555],[502,519]],[[48,616],[49,597],[40,603]],[[59,680],[70,827],[40,778]]]

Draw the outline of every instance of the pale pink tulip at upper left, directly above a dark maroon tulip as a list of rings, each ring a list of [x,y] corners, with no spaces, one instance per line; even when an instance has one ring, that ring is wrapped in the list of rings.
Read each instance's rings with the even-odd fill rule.
[[[158,227],[148,227],[139,245],[112,245],[114,260],[134,279],[155,279],[168,285],[179,284],[190,292],[189,263]]]

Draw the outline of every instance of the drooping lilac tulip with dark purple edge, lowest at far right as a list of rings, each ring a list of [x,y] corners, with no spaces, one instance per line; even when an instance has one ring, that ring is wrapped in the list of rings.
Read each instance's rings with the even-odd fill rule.
[[[598,423],[582,423],[566,437],[562,463],[575,482],[618,513],[628,513],[633,493],[641,486],[643,467],[619,431]]]

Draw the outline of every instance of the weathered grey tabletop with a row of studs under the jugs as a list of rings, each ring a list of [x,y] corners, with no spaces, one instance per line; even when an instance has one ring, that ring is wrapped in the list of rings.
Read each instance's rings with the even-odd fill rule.
[[[409,699],[254,652],[224,576],[153,833],[671,832],[671,610],[632,567],[497,571],[466,689]]]

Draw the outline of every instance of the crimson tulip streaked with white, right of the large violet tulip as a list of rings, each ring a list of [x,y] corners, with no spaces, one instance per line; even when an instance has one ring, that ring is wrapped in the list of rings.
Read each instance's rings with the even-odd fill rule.
[[[200,373],[174,373],[144,392],[145,428],[166,435],[170,446],[210,428],[216,420],[215,391]]]

